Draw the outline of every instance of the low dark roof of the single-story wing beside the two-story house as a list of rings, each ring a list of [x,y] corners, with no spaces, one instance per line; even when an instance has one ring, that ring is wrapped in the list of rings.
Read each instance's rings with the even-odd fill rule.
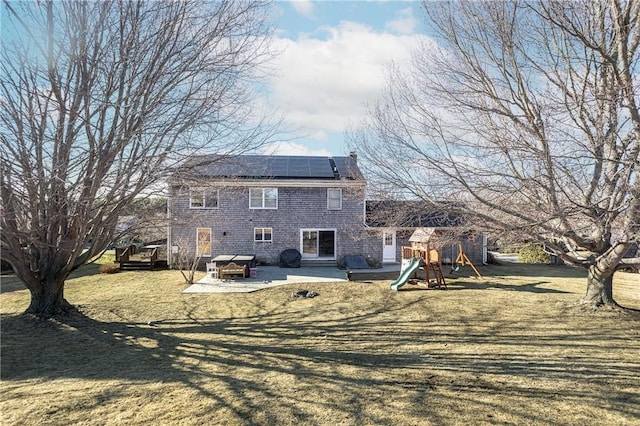
[[[417,201],[369,200],[366,224],[373,228],[450,228],[460,226],[460,217],[443,211],[425,210]]]

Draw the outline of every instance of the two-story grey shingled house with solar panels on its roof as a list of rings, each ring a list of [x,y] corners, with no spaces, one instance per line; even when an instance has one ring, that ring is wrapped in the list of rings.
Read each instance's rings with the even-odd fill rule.
[[[363,252],[365,180],[355,154],[197,157],[170,180],[169,207],[169,247],[203,259],[252,254],[277,264],[294,248],[326,264]]]

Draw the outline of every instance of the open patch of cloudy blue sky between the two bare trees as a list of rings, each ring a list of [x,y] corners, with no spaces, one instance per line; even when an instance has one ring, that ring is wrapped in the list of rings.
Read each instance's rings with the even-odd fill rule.
[[[417,1],[276,1],[280,55],[266,102],[291,140],[266,153],[344,155],[344,131],[366,114],[393,61],[403,66],[424,31]]]

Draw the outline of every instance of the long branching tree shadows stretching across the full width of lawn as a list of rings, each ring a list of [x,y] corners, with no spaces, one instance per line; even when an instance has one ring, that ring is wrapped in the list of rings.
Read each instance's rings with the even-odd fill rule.
[[[480,328],[465,332],[464,323],[434,321],[427,327],[422,320],[390,321],[395,313],[389,311],[322,320],[322,311],[334,314],[335,306],[314,308],[313,319],[267,313],[224,320],[165,319],[154,325],[101,322],[80,314],[61,322],[4,316],[1,378],[182,383],[210,400],[216,410],[224,408],[237,419],[246,421],[263,413],[266,417],[260,423],[264,424],[310,420],[310,406],[356,424],[388,424],[385,416],[392,409],[374,414],[368,405],[385,404],[391,396],[410,402],[405,413],[410,420],[455,419],[447,416],[454,416],[456,410],[464,414],[466,408],[451,404],[438,411],[433,405],[436,401],[446,404],[443,395],[450,392],[467,398],[471,406],[489,405],[487,409],[510,413],[521,422],[545,420],[545,414],[510,403],[512,398],[541,404],[546,398],[583,404],[606,399],[616,411],[640,416],[637,394],[620,391],[603,396],[600,391],[612,382],[637,385],[637,360],[612,363],[607,351],[585,354],[607,339],[609,350],[638,346],[618,339],[613,325],[607,330],[585,324],[581,335],[554,329],[541,336],[531,332],[540,324],[474,323]],[[499,318],[496,312],[482,315],[486,320]],[[475,320],[483,324],[483,318]],[[488,344],[503,350],[485,353]],[[476,349],[460,349],[467,345]],[[524,355],[523,346],[530,346],[533,355]],[[551,348],[553,355],[536,356],[543,347]],[[279,385],[271,381],[274,376],[293,378],[293,382]],[[557,390],[536,386],[541,378],[569,385],[558,395]],[[589,386],[573,388],[570,384],[575,381]],[[95,398],[94,404],[117,400],[123,392],[118,386]],[[487,394],[501,395],[504,401],[476,400]],[[266,413],[265,404],[270,406]]]

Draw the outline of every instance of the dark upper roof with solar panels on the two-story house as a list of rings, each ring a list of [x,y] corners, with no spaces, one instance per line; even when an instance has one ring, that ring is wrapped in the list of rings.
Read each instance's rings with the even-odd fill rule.
[[[192,158],[182,167],[182,172],[209,178],[363,179],[355,156],[204,155]]]

